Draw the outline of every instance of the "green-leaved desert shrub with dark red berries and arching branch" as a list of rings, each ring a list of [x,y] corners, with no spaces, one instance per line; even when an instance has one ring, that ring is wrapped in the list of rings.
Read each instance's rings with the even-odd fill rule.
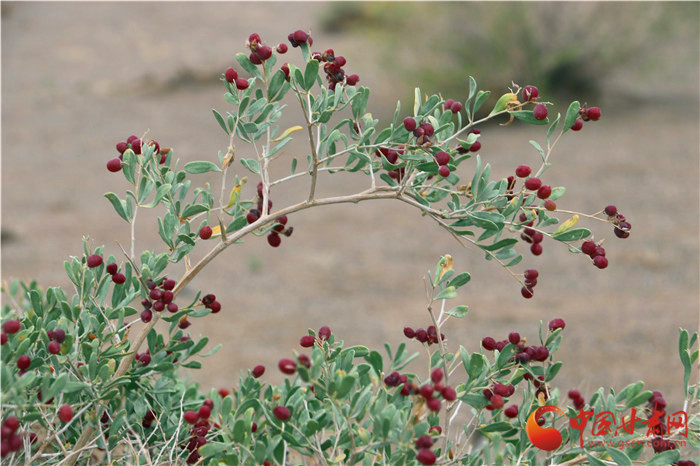
[[[312,53],[312,38],[303,31],[290,34],[288,43],[301,52],[299,66],[279,65],[291,50],[287,43],[273,50],[253,34],[250,52],[236,56],[238,70],[222,74],[229,107],[214,117],[228,146],[218,159],[183,164],[174,150],[145,136],[117,143],[119,155],[107,169],[123,176],[128,188],[105,197],[131,229],[130,245],[110,253],[84,240],[82,252],[65,262],[70,291],[23,282],[3,286],[3,461],[534,464],[546,456],[563,464],[631,464],[647,451],[650,464],[682,464],[676,413],[667,417],[663,395],[643,382],[587,398],[569,392],[570,402],[553,386],[562,366],[554,357],[565,332],[562,319],[541,323],[537,335],[450,341],[442,328],[448,319],[466,317],[467,306],[455,299],[470,275],[458,272],[447,254],[425,277],[425,325],[404,328],[408,341],[396,348],[346,347],[342,330],[322,327],[300,335],[299,352],[282,355],[277,369],[288,377],[279,385],[265,382],[262,365],[242,374],[232,392],[205,392],[183,381],[183,368],[201,367],[199,358],[218,348],[207,349],[208,339],[194,338],[191,328],[199,319],[222,318],[226,303],[216,290],[197,292],[189,302],[180,292],[244,238],[264,237],[271,247],[293,242],[293,217],[302,210],[377,199],[409,204],[503,267],[524,299],[533,298],[540,277],[520,265],[516,245],[539,255],[546,240],[580,255],[585,266],[605,269],[606,250],[579,220],[605,224],[621,239],[630,235],[631,223],[616,206],[590,214],[560,209],[564,187],[543,181],[557,141],[594,124],[599,108],[575,101],[550,119],[553,105],[537,88],[513,85],[476,119],[490,93],[471,78],[456,99],[416,89],[413,107],[398,104],[393,119],[380,125],[366,112],[369,89],[345,71],[342,56],[330,49]],[[300,125],[281,129],[283,112],[295,112]],[[531,141],[538,166],[504,170],[485,163],[479,126],[490,120],[541,127],[541,142]],[[300,136],[308,139],[308,153],[297,158],[285,147]],[[256,156],[239,158],[237,144]],[[271,164],[282,162],[291,173],[273,179]],[[495,176],[496,170],[512,174]],[[210,172],[220,174],[220,186],[194,184],[196,175]],[[363,177],[367,188],[320,197],[318,178],[340,172]],[[247,177],[260,180],[249,184],[252,190],[245,188]],[[273,205],[275,186],[289,182],[307,183],[308,195]],[[159,251],[135,250],[142,209],[160,210],[154,226],[163,242]],[[195,249],[208,252],[192,263]],[[178,263],[185,273],[174,279]],[[165,325],[156,328],[158,321]],[[696,344],[697,334],[681,330],[685,408],[695,410],[687,441],[694,447]],[[414,351],[420,347],[424,355]],[[425,363],[422,373],[406,369],[417,358]],[[525,426],[545,431],[538,430],[540,417],[557,406],[570,418],[580,416],[579,426],[587,412],[606,410],[619,419],[635,409],[639,416],[627,422],[629,431],[616,431],[615,440],[629,445],[584,445],[565,424],[549,431],[560,431],[561,445],[541,452],[544,444]],[[647,418],[658,421],[651,424],[658,441],[645,449],[634,441],[635,428]]]

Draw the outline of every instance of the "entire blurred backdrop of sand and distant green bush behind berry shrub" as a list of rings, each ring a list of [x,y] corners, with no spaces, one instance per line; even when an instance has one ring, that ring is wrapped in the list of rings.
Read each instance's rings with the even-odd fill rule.
[[[534,84],[565,111],[571,99],[603,117],[568,133],[546,182],[565,185],[560,208],[593,213],[616,204],[632,222],[606,238],[610,266],[598,270],[545,242],[521,247],[517,269],[540,270],[534,299],[497,264],[462,249],[412,208],[393,202],[314,209],[290,218],[294,235],[272,249],[263,238],[220,255],[190,285],[223,310],[190,330],[222,349],[196,375],[203,388],[231,387],[262,363],[279,379],[280,357],[306,329],[329,325],[351,344],[403,340],[427,326],[423,277],[440,255],[471,272],[460,295],[466,320],[447,325],[451,349],[479,350],[490,335],[536,339],[539,321],[566,320],[558,385],[589,397],[643,379],[681,409],[678,327],[698,325],[698,3],[2,3],[2,278],[68,286],[62,261],[81,237],[118,255],[129,228],[103,194],[123,193],[105,169],[115,144],[143,134],[175,148],[182,162],[215,160],[227,137],[211,108],[227,110],[221,72],[251,32],[270,45],[310,30],[313,49],[332,47],[372,89],[375,117],[411,107],[413,87],[464,100],[467,77],[500,95],[511,81]],[[284,57],[299,62],[296,49]],[[283,60],[282,60],[283,61]],[[281,61],[278,61],[281,63]],[[485,108],[489,105],[485,105]],[[296,124],[295,109],[282,124]],[[541,128],[486,126],[481,156],[494,177],[539,156]],[[299,137],[273,174],[284,175]],[[246,148],[239,144],[240,157]],[[250,155],[248,155],[250,156]],[[238,173],[244,174],[240,165]],[[461,171],[467,176],[465,164]],[[469,175],[471,176],[471,175]],[[193,177],[204,183],[204,175]],[[218,189],[218,179],[212,179]],[[322,195],[363,189],[362,176],[321,182]],[[308,180],[273,191],[297,202]],[[244,196],[252,197],[255,183]],[[137,249],[161,250],[155,215],[139,213]],[[198,248],[194,259],[204,250]],[[174,273],[177,278],[181,270]],[[418,343],[409,343],[418,351]],[[268,377],[266,375],[266,377]]]

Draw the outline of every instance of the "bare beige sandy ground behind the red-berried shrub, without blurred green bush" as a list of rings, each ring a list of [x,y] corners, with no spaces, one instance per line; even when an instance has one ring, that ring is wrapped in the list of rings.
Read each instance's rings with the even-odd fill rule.
[[[270,42],[283,40],[288,31],[315,28],[321,8],[174,5],[3,3],[3,280],[67,285],[62,261],[80,252],[82,235],[117,254],[115,241],[128,240],[128,226],[102,197],[126,188],[104,168],[114,144],[150,129],[183,161],[214,160],[227,142],[210,110],[226,108],[218,73],[252,30]],[[377,86],[375,115],[393,111],[406,90],[397,93],[375,73],[372,57],[358,53],[365,50],[356,47],[361,39],[314,37],[319,47],[345,51],[362,82]],[[590,396],[601,385],[619,390],[643,379],[663,391],[669,409],[680,409],[678,327],[697,328],[699,302],[698,67],[687,69],[691,75],[681,81],[693,86],[680,89],[686,100],[657,94],[605,107],[599,123],[567,135],[554,155],[546,181],[567,186],[561,207],[595,212],[615,203],[633,224],[626,241],[603,224],[589,225],[596,238],[607,238],[606,270],[546,243],[542,256],[527,253],[520,267],[536,267],[542,277],[535,299],[524,300],[508,273],[462,249],[409,206],[376,202],[299,213],[290,218],[294,236],[280,248],[249,239],[186,290],[185,297],[194,287],[213,292],[223,304],[220,314],[191,327],[223,345],[197,380],[204,388],[231,386],[242,369],[274,367],[298,348],[307,328],[324,324],[348,343],[400,342],[404,325],[428,325],[422,278],[450,253],[456,268],[473,277],[460,296],[469,318],[451,321],[445,332],[452,349],[478,350],[483,336],[504,338],[512,330],[534,339],[540,320],[563,317],[563,389]],[[668,81],[654,84],[659,89]],[[519,163],[536,163],[527,141],[543,136],[531,127],[489,127],[482,156],[495,176],[507,176]],[[273,172],[286,173],[291,154],[304,150],[301,142],[290,146]],[[285,185],[274,199],[303,199],[306,183]],[[322,181],[320,191],[351,193],[366,183],[336,176]],[[153,215],[139,216],[137,248],[160,248],[155,225]]]

